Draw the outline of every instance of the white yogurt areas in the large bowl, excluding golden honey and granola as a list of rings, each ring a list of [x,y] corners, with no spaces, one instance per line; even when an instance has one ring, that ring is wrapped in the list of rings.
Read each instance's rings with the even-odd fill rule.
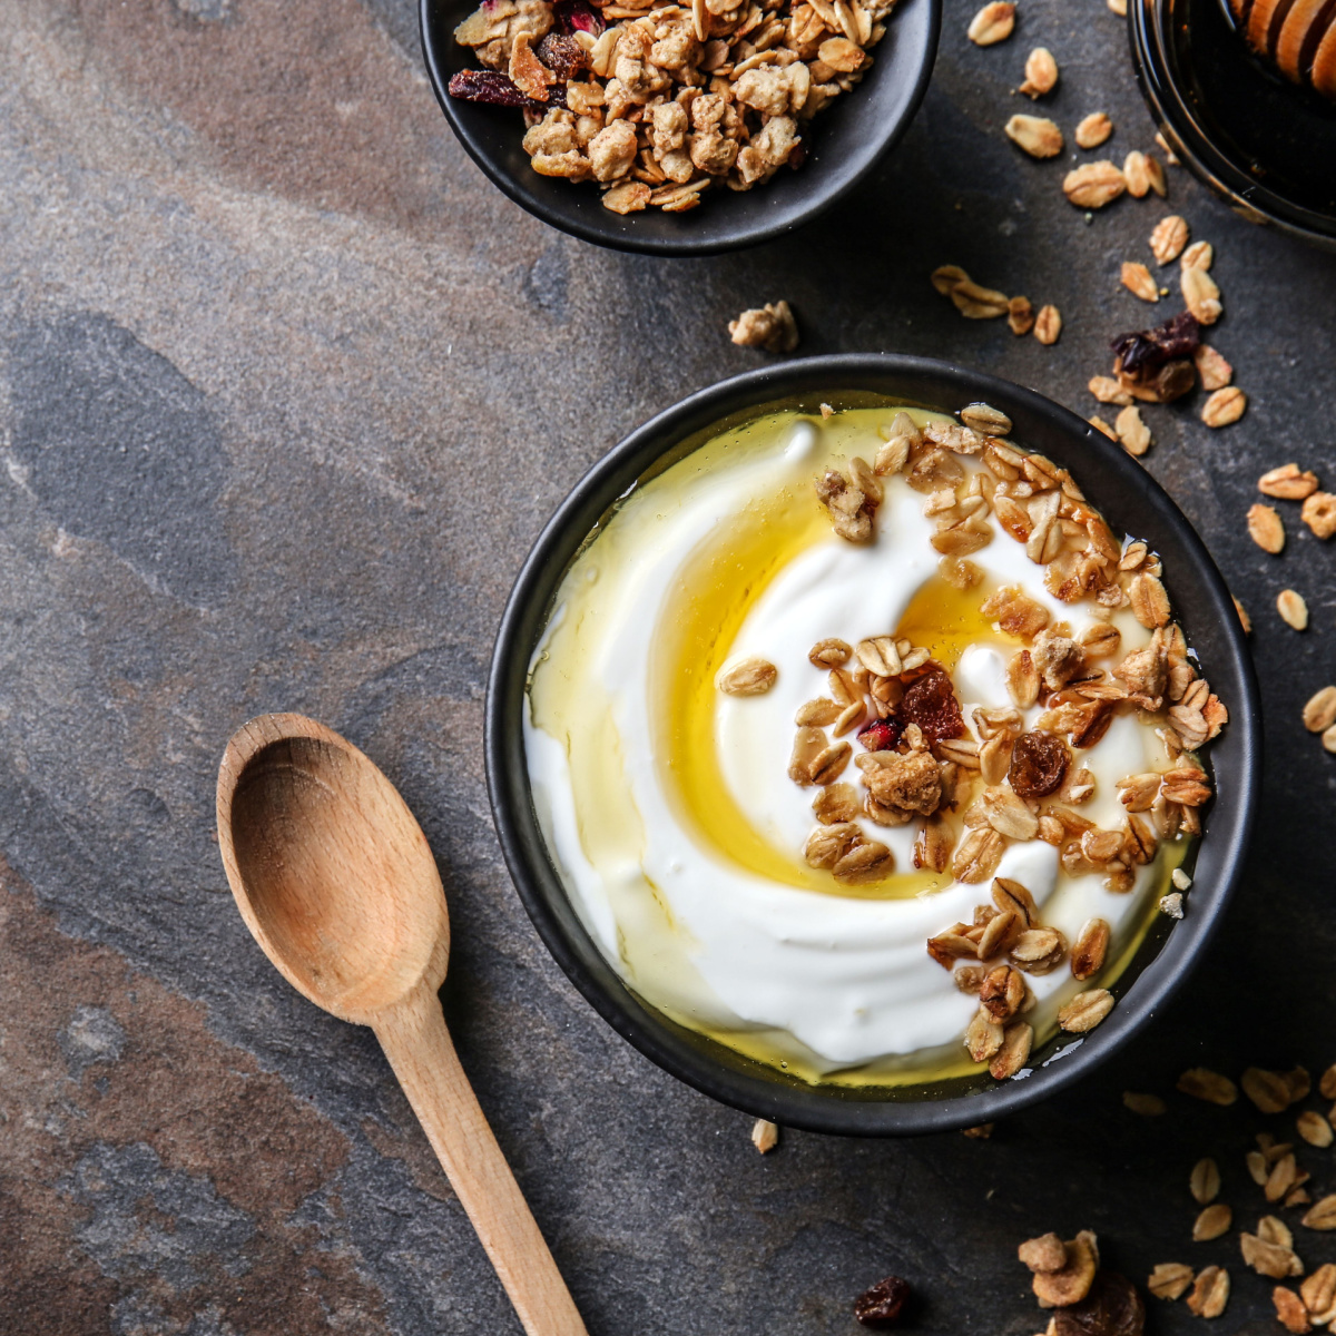
[[[987,902],[987,886],[953,883],[895,899],[840,894],[834,883],[834,894],[811,888],[802,850],[815,824],[815,791],[787,775],[794,712],[827,689],[810,648],[830,636],[854,644],[894,631],[937,574],[925,498],[903,478],[891,480],[867,545],[816,529],[751,603],[725,647],[728,659],[760,655],[779,669],[764,695],[713,700],[723,786],[747,838],[784,864],[779,875],[758,871],[693,820],[656,683],[683,581],[696,577],[701,553],[727,544],[731,526],[745,522],[758,501],[796,498],[792,513],[810,498],[816,513],[816,469],[831,452],[871,458],[880,444],[875,428],[892,415],[862,410],[796,426],[787,415],[766,420],[635,490],[561,587],[534,659],[525,720],[542,831],[609,963],[681,1023],[812,1079],[922,1075],[967,1062],[959,1039],[978,1002],[957,990],[925,942],[957,919],[970,922],[974,906]],[[1001,529],[970,560],[991,584],[1021,585],[1075,633],[1093,620],[1090,604],[1053,599],[1042,568]],[[745,578],[740,572],[740,588]],[[1124,652],[1146,639],[1130,616],[1120,613],[1116,625]],[[962,655],[953,677],[966,720],[977,705],[1010,704],[1009,652],[979,643]],[[1037,713],[1029,712],[1027,725]],[[1121,824],[1116,782],[1162,759],[1152,728],[1117,717],[1097,747],[1079,754],[1096,778],[1082,815]],[[864,828],[891,847],[898,868],[911,868],[915,824]],[[1023,883],[1043,922],[1069,939],[1088,918],[1106,919],[1113,961],[1136,939],[1166,868],[1158,859],[1138,870],[1132,892],[1113,894],[1097,875],[1063,874],[1058,851],[1031,840],[1007,848],[998,875]],[[1029,1017],[1037,1029],[1079,987],[1065,967],[1027,982],[1039,1003]]]

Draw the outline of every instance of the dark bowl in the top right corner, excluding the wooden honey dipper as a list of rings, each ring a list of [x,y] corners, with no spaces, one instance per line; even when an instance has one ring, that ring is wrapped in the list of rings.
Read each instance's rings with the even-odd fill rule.
[[[1220,0],[1133,0],[1137,81],[1177,158],[1236,212],[1336,248],[1336,104],[1259,60]]]

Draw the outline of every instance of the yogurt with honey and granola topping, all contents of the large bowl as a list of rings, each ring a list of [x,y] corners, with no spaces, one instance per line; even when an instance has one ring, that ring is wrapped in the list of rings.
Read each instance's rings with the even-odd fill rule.
[[[1172,585],[987,403],[782,409],[637,485],[556,591],[524,731],[603,958],[814,1086],[1083,1042],[1177,922],[1228,724]]]

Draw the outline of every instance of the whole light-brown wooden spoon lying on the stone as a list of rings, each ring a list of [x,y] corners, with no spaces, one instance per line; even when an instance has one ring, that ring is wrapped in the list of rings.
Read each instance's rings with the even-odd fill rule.
[[[398,791],[314,719],[263,715],[218,770],[218,844],[236,907],[283,978],[375,1031],[524,1329],[587,1336],[445,1027],[445,891]]]

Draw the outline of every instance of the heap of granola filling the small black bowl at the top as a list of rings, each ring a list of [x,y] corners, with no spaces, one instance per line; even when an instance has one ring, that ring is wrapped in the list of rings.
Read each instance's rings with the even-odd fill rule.
[[[804,156],[803,130],[872,64],[895,0],[484,0],[456,29],[486,71],[450,95],[520,107],[533,170],[617,214],[685,212]]]

